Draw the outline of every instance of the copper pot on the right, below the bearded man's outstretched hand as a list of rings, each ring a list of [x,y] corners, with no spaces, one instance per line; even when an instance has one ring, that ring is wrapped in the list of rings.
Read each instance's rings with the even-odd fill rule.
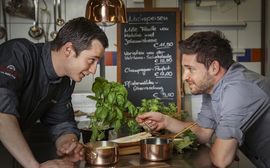
[[[164,161],[172,156],[172,139],[148,138],[140,141],[141,158],[149,161]]]

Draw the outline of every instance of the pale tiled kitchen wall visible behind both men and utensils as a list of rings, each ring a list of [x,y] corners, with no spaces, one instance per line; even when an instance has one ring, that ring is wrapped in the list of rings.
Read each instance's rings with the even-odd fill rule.
[[[6,0],[8,2],[9,0]],[[24,0],[27,1],[27,0]],[[31,2],[32,0],[28,0]],[[40,8],[44,9],[45,4],[43,0],[39,0]],[[47,11],[40,10],[40,25],[46,30],[48,34],[54,31],[54,13],[53,3],[54,0],[44,0],[47,4]],[[204,0],[202,0],[204,1]],[[144,7],[143,1],[138,0],[124,0],[127,7]],[[138,3],[140,2],[140,3]],[[233,0],[216,0],[216,5],[198,7],[195,0],[156,0],[154,7],[179,7],[183,11],[183,23],[186,25],[183,31],[182,38],[189,37],[196,31],[205,31],[219,29],[224,32],[227,38],[231,41],[234,48],[235,57],[245,54],[245,49],[261,48],[261,1],[260,0],[242,0],[240,5],[237,5]],[[182,4],[184,3],[184,5]],[[84,16],[87,0],[62,0],[62,17],[65,21],[74,17]],[[49,15],[48,15],[49,14]],[[45,38],[39,40],[33,39],[28,35],[29,28],[33,25],[32,19],[14,17],[7,14],[7,29],[8,38],[27,38],[34,42],[44,42]],[[0,25],[3,25],[3,16],[1,11]],[[199,23],[206,24],[204,26],[198,25]],[[228,23],[232,23],[228,26]],[[246,23],[246,26],[233,26],[234,23]],[[194,25],[194,24],[197,24]],[[216,24],[215,26],[211,26]],[[222,26],[222,24],[224,24]],[[209,25],[209,26],[207,26]],[[221,25],[221,26],[217,26]],[[57,30],[59,30],[57,26]],[[47,30],[48,29],[48,30]],[[104,27],[109,38],[109,48],[107,51],[116,51],[116,25],[111,27]],[[48,40],[51,40],[48,35]],[[0,39],[2,43],[4,39]],[[260,63],[243,63],[253,70],[260,73]],[[116,66],[106,66],[106,78],[108,80],[116,81]],[[96,76],[99,75],[99,71]],[[89,91],[93,77],[88,77],[76,87],[76,92]]]

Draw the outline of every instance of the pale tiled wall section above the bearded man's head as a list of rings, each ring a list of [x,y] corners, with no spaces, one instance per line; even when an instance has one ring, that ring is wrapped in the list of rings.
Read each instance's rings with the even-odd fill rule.
[[[184,38],[194,31],[207,29],[219,29],[231,40],[232,47],[235,49],[260,48],[260,27],[261,13],[260,1],[246,0],[241,1],[237,6],[233,0],[217,0],[217,5],[213,7],[197,7],[194,1],[185,2],[185,22],[208,22],[211,23],[230,23],[245,22],[246,27],[198,27],[185,29]],[[233,24],[232,24],[233,25]]]

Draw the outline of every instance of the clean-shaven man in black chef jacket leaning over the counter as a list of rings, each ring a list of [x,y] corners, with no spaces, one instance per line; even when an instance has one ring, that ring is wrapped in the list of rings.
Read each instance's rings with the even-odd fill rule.
[[[23,167],[72,168],[84,158],[71,94],[75,82],[95,74],[107,47],[105,33],[83,17],[67,22],[51,42],[13,39],[0,45],[0,142]],[[38,120],[60,159],[39,163],[33,156],[24,132]]]

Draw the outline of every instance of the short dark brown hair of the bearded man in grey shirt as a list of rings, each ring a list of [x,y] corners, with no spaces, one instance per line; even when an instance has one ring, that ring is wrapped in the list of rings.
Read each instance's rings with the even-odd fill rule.
[[[234,62],[230,41],[217,30],[194,33],[180,41],[179,46],[181,54],[197,54],[197,62],[204,64],[207,69],[214,60],[225,69]]]

